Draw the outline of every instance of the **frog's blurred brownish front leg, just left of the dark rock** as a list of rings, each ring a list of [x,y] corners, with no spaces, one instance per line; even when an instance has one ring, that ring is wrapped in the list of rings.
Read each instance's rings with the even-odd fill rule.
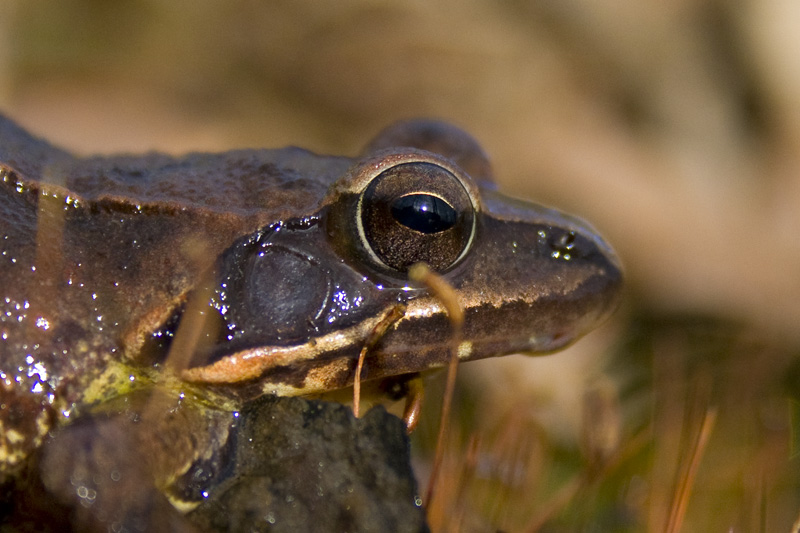
[[[184,513],[204,499],[204,483],[224,477],[235,417],[186,396],[132,393],[52,432],[4,520],[44,531],[197,531]]]

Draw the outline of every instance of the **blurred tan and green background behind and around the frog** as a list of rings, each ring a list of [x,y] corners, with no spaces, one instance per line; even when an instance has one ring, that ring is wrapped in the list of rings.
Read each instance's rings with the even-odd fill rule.
[[[434,529],[788,531],[798,57],[793,0],[4,0],[0,112],[79,154],[463,127],[503,191],[591,221],[627,289],[567,352],[459,369]]]

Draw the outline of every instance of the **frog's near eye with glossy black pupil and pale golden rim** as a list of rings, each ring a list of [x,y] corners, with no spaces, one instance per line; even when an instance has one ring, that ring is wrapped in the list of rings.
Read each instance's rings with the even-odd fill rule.
[[[420,261],[448,270],[475,233],[475,208],[461,180],[430,162],[401,163],[378,174],[357,211],[359,237],[370,256],[400,272]]]

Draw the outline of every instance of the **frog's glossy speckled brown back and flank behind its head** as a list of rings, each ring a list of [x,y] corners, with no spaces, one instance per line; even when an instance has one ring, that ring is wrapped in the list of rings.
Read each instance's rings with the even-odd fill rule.
[[[231,242],[310,216],[349,165],[299,148],[76,158],[0,116],[0,483]]]

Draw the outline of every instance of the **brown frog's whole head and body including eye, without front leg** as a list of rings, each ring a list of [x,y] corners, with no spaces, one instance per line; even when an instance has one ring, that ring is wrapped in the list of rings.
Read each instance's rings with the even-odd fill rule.
[[[558,350],[622,283],[589,225],[497,192],[440,122],[396,124],[357,158],[78,158],[0,118],[0,177],[0,484],[138,383],[223,410],[347,387],[392,310],[362,379],[443,366],[451,326],[417,262],[458,295],[463,361]]]

